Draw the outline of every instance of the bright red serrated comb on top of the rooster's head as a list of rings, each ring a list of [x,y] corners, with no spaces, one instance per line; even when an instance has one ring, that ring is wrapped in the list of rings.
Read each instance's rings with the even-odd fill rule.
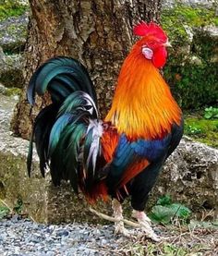
[[[167,36],[163,29],[154,22],[147,24],[144,21],[141,21],[134,27],[133,33],[138,36],[155,36],[162,41],[167,40]]]

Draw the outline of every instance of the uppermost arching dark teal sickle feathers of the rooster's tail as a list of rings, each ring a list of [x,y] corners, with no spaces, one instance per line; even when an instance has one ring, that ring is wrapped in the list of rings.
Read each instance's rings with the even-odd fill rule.
[[[57,83],[59,87],[56,86]],[[84,91],[97,104],[96,93],[86,68],[73,58],[62,56],[49,59],[35,71],[27,91],[30,104],[34,104],[36,92],[42,95],[46,90],[50,91],[55,102],[58,100],[57,91],[63,93],[67,90],[64,99],[74,91]],[[55,91],[54,97],[53,91]],[[63,102],[63,97],[60,98],[60,102]]]

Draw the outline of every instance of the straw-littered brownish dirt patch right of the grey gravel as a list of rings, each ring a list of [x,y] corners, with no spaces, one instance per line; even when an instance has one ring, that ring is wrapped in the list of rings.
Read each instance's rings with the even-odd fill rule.
[[[190,229],[188,226],[156,226],[155,230],[162,237],[162,241],[158,243],[143,237],[129,238],[128,241],[118,238],[116,241],[120,241],[119,248],[112,249],[110,245],[105,245],[98,250],[101,252],[104,250],[105,255],[218,255],[217,228],[196,227]]]

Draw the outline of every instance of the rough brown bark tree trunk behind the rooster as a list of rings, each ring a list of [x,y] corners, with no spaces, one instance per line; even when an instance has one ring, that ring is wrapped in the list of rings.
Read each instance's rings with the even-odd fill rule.
[[[72,56],[88,67],[104,116],[120,66],[135,40],[133,25],[139,20],[158,21],[161,3],[162,0],[30,0],[26,85],[46,59]],[[11,123],[17,135],[30,137],[34,117],[48,98],[37,98],[31,108],[25,86]]]

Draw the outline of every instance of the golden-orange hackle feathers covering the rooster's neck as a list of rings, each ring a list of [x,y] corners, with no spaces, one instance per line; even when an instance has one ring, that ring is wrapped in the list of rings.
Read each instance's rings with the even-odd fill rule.
[[[181,110],[160,74],[135,44],[117,81],[112,107],[105,117],[131,140],[158,139],[180,124]]]

